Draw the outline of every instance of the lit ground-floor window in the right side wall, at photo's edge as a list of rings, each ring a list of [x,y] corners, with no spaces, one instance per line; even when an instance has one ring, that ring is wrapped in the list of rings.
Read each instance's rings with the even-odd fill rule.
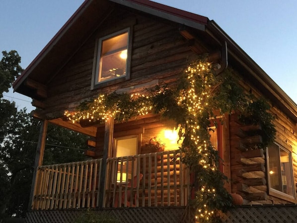
[[[291,152],[272,144],[267,149],[269,193],[295,199]]]

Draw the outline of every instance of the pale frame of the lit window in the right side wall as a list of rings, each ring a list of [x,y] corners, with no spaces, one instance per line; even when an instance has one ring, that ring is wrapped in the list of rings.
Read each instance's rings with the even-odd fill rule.
[[[282,147],[280,144],[278,143],[274,143],[276,146],[278,146],[279,148],[279,153],[280,153],[280,149],[283,149],[284,151],[288,152],[289,154],[289,161],[290,161],[290,177],[291,177],[291,181],[292,181],[292,187],[293,187],[293,196],[284,193],[282,191],[279,191],[277,189],[274,189],[271,187],[271,179],[270,179],[270,166],[269,166],[269,147],[266,149],[266,159],[267,159],[267,176],[268,176],[268,193],[269,195],[287,200],[287,201],[291,201],[291,202],[296,202],[296,188],[295,188],[295,183],[294,183],[294,172],[293,172],[293,162],[292,162],[292,151],[290,151],[289,149],[286,149],[284,147]],[[281,164],[281,162],[280,162]],[[281,173],[280,173],[281,174]]]

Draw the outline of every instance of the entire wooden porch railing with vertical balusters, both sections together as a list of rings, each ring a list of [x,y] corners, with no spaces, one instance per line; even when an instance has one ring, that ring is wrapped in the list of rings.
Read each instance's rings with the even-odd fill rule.
[[[184,207],[189,169],[179,150],[39,166],[32,210]]]

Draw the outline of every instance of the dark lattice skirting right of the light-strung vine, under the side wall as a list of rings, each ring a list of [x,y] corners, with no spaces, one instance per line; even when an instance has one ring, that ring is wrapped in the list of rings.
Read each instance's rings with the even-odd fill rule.
[[[252,206],[231,209],[223,223],[297,223],[296,205]]]

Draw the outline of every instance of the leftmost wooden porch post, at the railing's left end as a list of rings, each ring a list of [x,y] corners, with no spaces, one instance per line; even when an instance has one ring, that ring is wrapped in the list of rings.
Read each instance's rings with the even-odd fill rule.
[[[33,179],[32,179],[31,192],[30,192],[30,198],[29,198],[29,206],[28,206],[29,210],[32,209],[32,200],[33,200],[33,195],[34,195],[34,192],[36,189],[37,167],[41,166],[42,161],[43,161],[47,127],[48,127],[48,120],[43,120],[43,122],[40,126],[39,139],[38,139],[38,144],[37,144],[36,153],[35,153]]]

